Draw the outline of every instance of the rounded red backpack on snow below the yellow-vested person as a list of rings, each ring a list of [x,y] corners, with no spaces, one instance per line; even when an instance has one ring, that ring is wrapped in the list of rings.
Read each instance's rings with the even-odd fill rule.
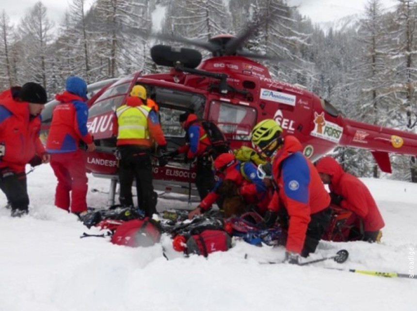
[[[111,242],[130,247],[152,246],[160,241],[161,228],[155,220],[145,217],[133,219],[119,225]]]

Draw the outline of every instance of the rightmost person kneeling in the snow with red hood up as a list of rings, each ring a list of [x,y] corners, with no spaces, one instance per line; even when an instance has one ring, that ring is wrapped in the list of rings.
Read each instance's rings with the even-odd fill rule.
[[[385,226],[378,206],[369,189],[357,177],[343,171],[341,165],[330,157],[322,157],[316,164],[324,184],[329,185],[332,203],[354,213],[347,220],[353,224],[349,240],[380,241]]]

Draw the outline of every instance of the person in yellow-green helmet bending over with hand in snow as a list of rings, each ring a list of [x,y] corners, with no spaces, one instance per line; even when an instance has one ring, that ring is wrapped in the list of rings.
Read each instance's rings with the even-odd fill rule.
[[[275,192],[265,215],[267,226],[279,221],[287,231],[286,261],[314,252],[330,222],[330,197],[314,165],[303,155],[294,136],[280,137],[281,127],[266,119],[255,125],[252,142],[271,158]]]

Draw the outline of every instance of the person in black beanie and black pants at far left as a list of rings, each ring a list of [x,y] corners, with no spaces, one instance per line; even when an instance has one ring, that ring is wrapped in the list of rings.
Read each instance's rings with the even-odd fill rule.
[[[26,164],[49,162],[39,139],[40,113],[46,102],[45,89],[34,82],[0,94],[0,188],[12,207],[12,217],[29,211]]]

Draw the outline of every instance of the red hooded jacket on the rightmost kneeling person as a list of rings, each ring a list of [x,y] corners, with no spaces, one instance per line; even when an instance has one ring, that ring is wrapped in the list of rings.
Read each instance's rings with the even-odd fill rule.
[[[321,158],[317,163],[317,171],[332,176],[330,191],[342,196],[340,207],[362,218],[365,231],[378,231],[385,226],[368,187],[357,177],[343,171],[334,158],[330,156]]]

